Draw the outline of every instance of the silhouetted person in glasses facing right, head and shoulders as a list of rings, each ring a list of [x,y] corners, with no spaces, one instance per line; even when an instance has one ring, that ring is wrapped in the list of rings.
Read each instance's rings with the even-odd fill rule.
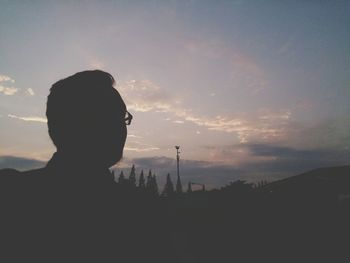
[[[113,84],[110,74],[95,70],[52,85],[46,115],[56,153],[42,169],[0,171],[5,243],[0,258],[139,262],[147,257],[149,236],[135,229],[144,215],[135,201],[121,196],[108,170],[122,158],[132,119]]]

